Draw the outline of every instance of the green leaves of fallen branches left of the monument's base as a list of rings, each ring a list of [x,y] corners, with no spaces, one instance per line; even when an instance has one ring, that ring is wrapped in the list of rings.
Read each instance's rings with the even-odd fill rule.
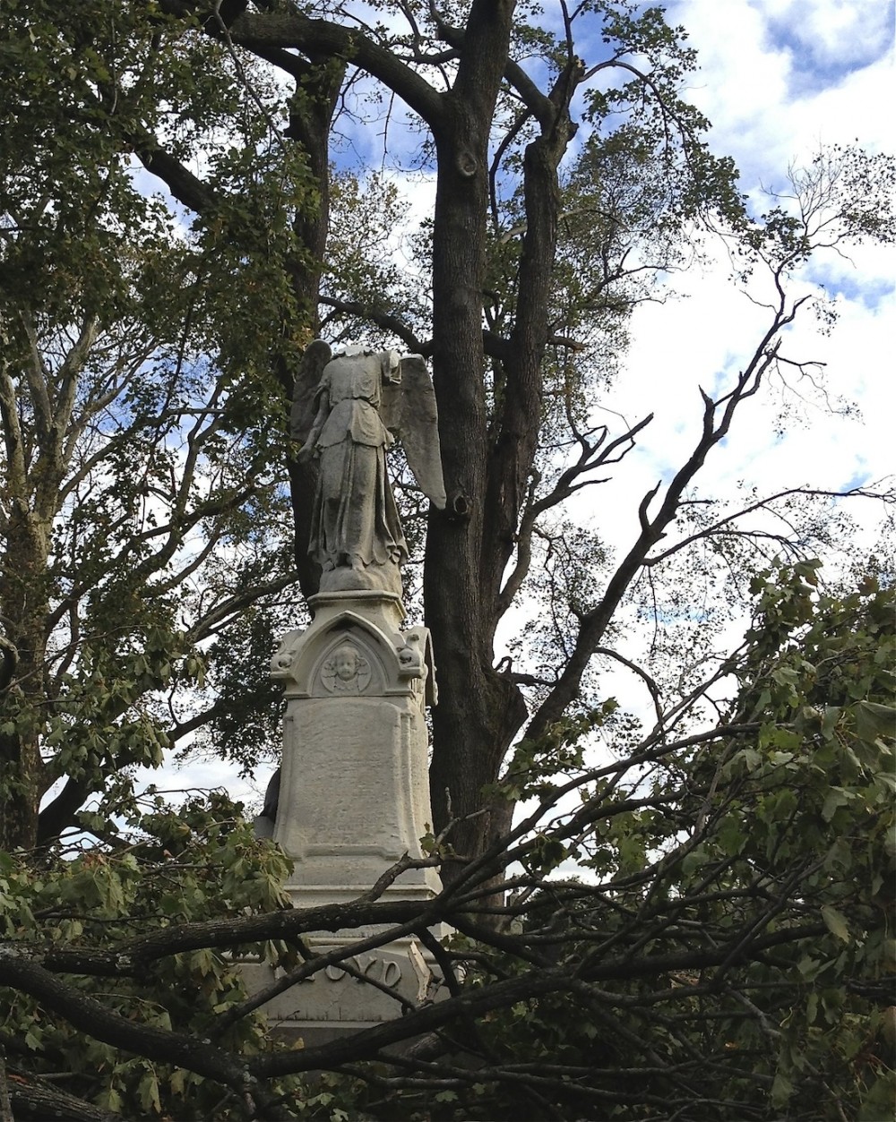
[[[127,844],[61,850],[35,864],[4,854],[0,870],[2,939],[6,954],[26,948],[38,956],[65,948],[77,954],[164,932],[191,920],[271,911],[287,902],[281,891],[287,864],[269,844],[256,842],[225,795],[193,798],[172,808],[149,800],[122,829]],[[262,945],[250,947],[264,955]],[[73,983],[75,1000],[95,987]],[[202,1038],[228,1009],[245,1001],[232,959],[202,947],[159,962],[130,976],[126,969],[103,980],[103,1017],[122,1018],[162,1032]],[[115,1039],[91,1039],[47,1003],[25,992],[4,1004],[2,1041],[13,1068],[36,1080],[44,1073],[71,1073],[70,1093],[110,1114],[122,1109],[145,1116],[222,1118],[219,1087],[195,1072],[152,1058],[122,1056]],[[235,1021],[222,1043],[240,1055],[258,1052],[265,1021]],[[130,1104],[130,1105],[129,1105]],[[223,1112],[223,1113],[221,1113]]]

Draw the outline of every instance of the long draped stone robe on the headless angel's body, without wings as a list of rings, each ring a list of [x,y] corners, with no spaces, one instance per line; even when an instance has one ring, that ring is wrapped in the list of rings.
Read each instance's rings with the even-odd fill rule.
[[[320,476],[309,553],[324,572],[349,567],[401,564],[408,546],[386,476],[392,436],[380,417],[384,376],[393,352],[339,356],[323,369],[316,397],[329,413],[316,444]]]

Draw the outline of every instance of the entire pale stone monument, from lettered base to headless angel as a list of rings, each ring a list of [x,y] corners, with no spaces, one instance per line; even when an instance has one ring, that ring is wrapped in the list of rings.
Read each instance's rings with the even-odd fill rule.
[[[423,359],[357,349],[331,356],[317,341],[304,361],[320,377],[313,399],[294,404],[292,435],[302,442],[300,456],[319,463],[309,552],[321,581],[309,601],[311,625],[284,635],[272,660],[286,715],[273,831],[269,822],[266,830],[294,863],[286,889],[299,908],[348,902],[405,853],[423,856],[420,838],[432,821],[426,708],[437,690],[428,629],[401,626],[408,549],[385,456],[394,435],[421,490],[445,506],[436,398]],[[266,820],[257,822],[263,830]],[[435,868],[408,870],[382,899],[423,902],[439,890]],[[371,934],[308,941],[329,950]],[[350,964],[357,973],[410,1001],[437,985],[413,939],[359,958]],[[267,966],[250,967],[254,988],[272,977]],[[397,1001],[339,967],[265,1008],[273,1024],[312,1037],[401,1013]]]

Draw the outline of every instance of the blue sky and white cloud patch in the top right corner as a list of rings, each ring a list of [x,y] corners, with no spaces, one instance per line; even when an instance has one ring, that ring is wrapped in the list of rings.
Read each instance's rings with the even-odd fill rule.
[[[893,148],[887,9],[875,0],[678,0],[700,71],[689,95],[713,147],[768,183],[820,144]]]

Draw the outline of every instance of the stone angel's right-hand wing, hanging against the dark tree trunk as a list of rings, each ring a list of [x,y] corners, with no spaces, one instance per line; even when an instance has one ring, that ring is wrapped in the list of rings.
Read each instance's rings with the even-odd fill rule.
[[[401,360],[401,380],[386,383],[381,415],[386,429],[401,438],[408,466],[420,489],[440,511],[445,508],[445,479],[439,448],[439,413],[436,390],[419,355]]]

